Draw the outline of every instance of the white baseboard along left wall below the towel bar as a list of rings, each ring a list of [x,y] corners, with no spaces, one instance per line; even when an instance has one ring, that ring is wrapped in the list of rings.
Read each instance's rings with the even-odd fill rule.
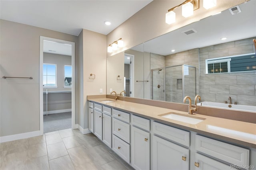
[[[36,137],[36,136],[40,136],[40,131],[33,131],[33,132],[27,132],[27,133],[19,133],[16,135],[3,136],[3,137],[0,137],[0,143],[15,141],[15,140],[19,140],[19,139],[25,139],[25,138],[29,138],[29,137]]]

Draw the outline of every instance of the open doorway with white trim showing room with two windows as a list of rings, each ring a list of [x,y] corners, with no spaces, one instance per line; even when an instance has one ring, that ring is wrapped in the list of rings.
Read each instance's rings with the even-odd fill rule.
[[[40,36],[39,77],[40,134],[75,129],[75,43]]]

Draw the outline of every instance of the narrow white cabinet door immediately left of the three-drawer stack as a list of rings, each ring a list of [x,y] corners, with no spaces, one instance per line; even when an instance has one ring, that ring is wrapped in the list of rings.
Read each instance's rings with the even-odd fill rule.
[[[112,117],[103,113],[103,142],[112,148]]]

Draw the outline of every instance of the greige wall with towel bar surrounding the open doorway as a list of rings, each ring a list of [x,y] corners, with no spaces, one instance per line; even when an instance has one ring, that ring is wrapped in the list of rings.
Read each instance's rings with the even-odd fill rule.
[[[75,42],[76,58],[78,37],[6,20],[0,25],[0,77],[33,77],[0,79],[0,136],[39,131],[40,36]]]

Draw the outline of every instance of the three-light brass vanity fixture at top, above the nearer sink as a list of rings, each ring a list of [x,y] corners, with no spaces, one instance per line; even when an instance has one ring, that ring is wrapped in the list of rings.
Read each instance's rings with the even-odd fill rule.
[[[217,0],[203,0],[203,6],[206,9],[212,8],[216,6],[216,1]],[[185,0],[181,4],[169,9],[168,13],[165,14],[165,22],[169,25],[176,22],[176,14],[173,12],[173,10],[179,6],[182,6],[182,16],[187,18],[192,16],[194,14],[194,10],[199,8],[199,0]]]

